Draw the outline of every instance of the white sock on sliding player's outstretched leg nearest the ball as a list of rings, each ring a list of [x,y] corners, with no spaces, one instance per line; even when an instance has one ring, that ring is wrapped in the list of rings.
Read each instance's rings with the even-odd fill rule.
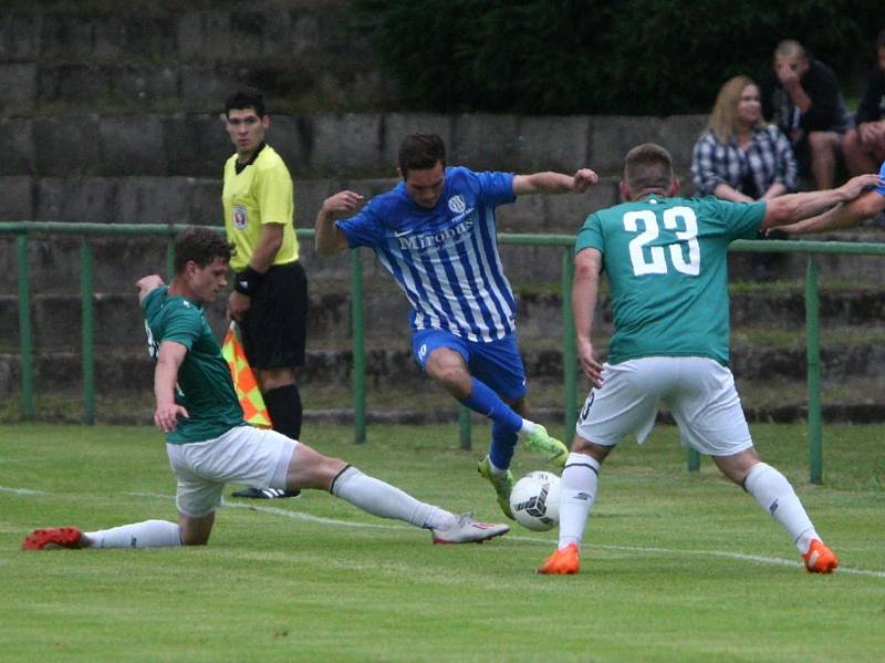
[[[418,501],[350,465],[332,481],[330,493],[374,516],[403,520],[416,527],[449,529],[458,522],[454,514]]]

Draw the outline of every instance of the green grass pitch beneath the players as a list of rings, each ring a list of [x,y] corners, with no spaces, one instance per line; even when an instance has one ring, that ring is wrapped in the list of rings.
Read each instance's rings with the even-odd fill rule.
[[[554,531],[430,546],[319,491],[237,500],[258,509],[220,509],[205,548],[21,551],[35,527],[174,519],[174,483],[149,428],[7,425],[0,660],[881,661],[885,427],[826,427],[822,486],[808,483],[803,427],[753,432],[840,555],[835,574],[801,569],[787,535],[709,460],[687,473],[666,426],[606,463],[576,577],[533,573]],[[304,439],[499,519],[475,469],[487,434],[475,427],[472,452],[455,426],[372,426],[360,446],[347,427],[310,426]],[[518,473],[540,467],[518,454]]]

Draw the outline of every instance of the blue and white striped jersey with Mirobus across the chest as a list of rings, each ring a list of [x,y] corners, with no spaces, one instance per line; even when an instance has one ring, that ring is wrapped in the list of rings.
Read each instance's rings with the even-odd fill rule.
[[[494,221],[494,208],[514,200],[512,173],[450,167],[434,209],[416,205],[400,182],[336,225],[351,248],[375,250],[412,304],[413,329],[489,342],[516,330]]]

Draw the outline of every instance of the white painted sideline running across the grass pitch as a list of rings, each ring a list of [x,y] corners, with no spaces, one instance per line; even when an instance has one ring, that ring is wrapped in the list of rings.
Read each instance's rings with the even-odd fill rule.
[[[0,486],[0,491],[15,493],[19,495],[50,495],[40,490],[25,490],[23,488],[7,488]],[[162,495],[158,493],[126,493],[135,497],[155,497],[160,499],[174,499],[169,495]],[[305,522],[316,522],[320,525],[332,525],[336,527],[354,527],[354,528],[372,528],[372,529],[407,529],[405,525],[398,524],[383,524],[383,522],[353,522],[350,520],[336,520],[335,518],[321,518],[319,516],[311,516],[310,514],[300,514],[298,511],[290,511],[278,507],[264,507],[260,505],[241,504],[222,501],[222,507],[235,509],[249,509],[258,511],[259,514],[268,514],[270,516],[282,516],[283,518],[291,518],[292,520],[303,520]],[[551,539],[541,539],[538,537],[528,537],[523,535],[508,535],[508,541],[520,541],[525,543],[554,546]],[[802,568],[802,563],[792,559],[783,559],[781,557],[766,557],[762,555],[746,555],[742,552],[730,552],[728,550],[690,550],[690,549],[675,549],[675,548],[658,548],[654,546],[611,546],[604,543],[584,543],[584,548],[596,548],[598,550],[621,550],[627,552],[638,552],[644,555],[687,555],[695,557],[720,557],[725,559],[735,559],[740,561],[749,561],[761,564],[774,564],[781,567],[796,567]],[[839,567],[839,573],[847,573],[851,576],[865,576],[868,578],[885,578],[885,571],[872,571],[866,569],[851,569],[846,567]]]

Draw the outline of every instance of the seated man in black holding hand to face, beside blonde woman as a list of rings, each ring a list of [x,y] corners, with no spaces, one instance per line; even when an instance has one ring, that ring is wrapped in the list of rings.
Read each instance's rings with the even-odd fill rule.
[[[800,170],[809,167],[819,189],[833,187],[842,136],[851,125],[832,69],[798,41],[774,49],[774,77],[762,93],[762,113],[790,138]]]

